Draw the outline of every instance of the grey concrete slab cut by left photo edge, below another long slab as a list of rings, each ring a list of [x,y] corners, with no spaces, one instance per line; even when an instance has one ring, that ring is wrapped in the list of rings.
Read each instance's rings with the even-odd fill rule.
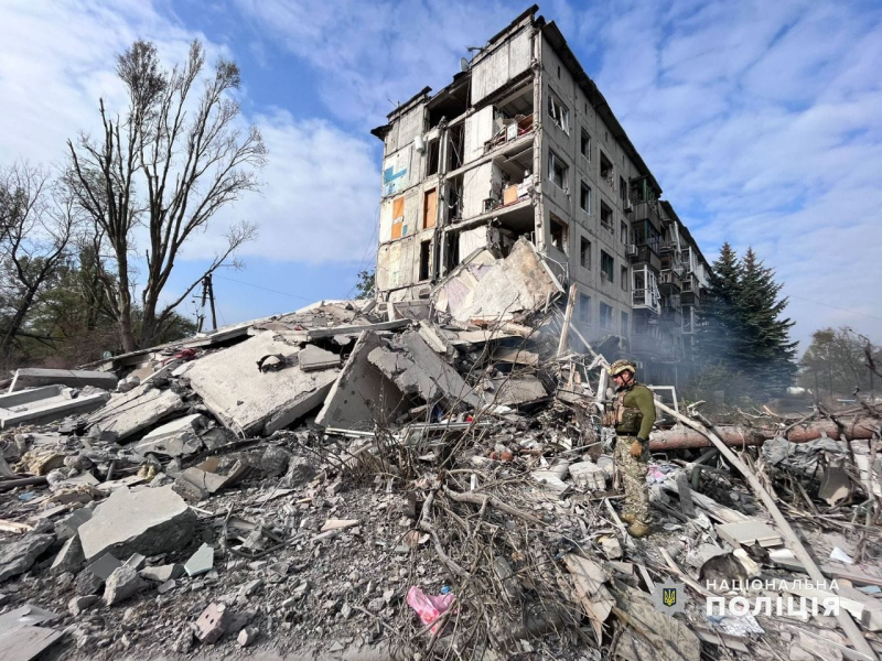
[[[47,386],[0,394],[0,429],[21,424],[43,424],[67,415],[90,413],[105,405],[110,394],[96,392],[74,398],[63,386]]]

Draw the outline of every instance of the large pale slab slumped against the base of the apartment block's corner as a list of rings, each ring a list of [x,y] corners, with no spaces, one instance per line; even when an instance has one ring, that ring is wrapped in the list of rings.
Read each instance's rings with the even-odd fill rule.
[[[549,295],[563,291],[526,239],[518,240],[504,260],[490,266],[482,256],[458,267],[432,293],[435,307],[459,322],[508,321],[519,312],[537,310]]]

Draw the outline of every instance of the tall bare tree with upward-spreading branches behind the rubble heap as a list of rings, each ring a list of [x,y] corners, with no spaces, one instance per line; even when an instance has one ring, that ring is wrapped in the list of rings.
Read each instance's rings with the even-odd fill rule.
[[[259,188],[256,171],[266,148],[255,127],[239,130],[239,106],[229,93],[239,87],[238,67],[219,59],[202,83],[205,51],[193,42],[183,67],[163,71],[155,46],[137,41],[117,58],[128,91],[125,118],[100,101],[104,134],[67,142],[67,183],[78,206],[95,224],[95,236],[110,253],[100,279],[127,351],[150,346],[174,308],[203,278],[227,264],[236,249],[255,237],[247,221],[234,226],[226,246],[205,272],[160,306],[181,248],[224,206]],[[135,324],[135,230],[147,230],[147,281],[141,291],[141,324]],[[235,261],[234,261],[235,263]]]

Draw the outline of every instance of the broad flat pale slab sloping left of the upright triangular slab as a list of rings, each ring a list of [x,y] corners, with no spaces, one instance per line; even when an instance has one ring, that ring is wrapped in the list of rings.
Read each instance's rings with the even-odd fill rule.
[[[228,429],[245,435],[288,426],[321,405],[338,369],[304,372],[292,358],[299,351],[271,330],[223,351],[200,358],[187,371],[190,386]],[[261,372],[265,356],[282,355],[289,367]]]

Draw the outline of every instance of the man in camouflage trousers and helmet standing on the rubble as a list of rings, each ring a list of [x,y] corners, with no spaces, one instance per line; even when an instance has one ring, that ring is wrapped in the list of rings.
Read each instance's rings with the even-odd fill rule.
[[[622,520],[630,523],[632,537],[649,534],[649,496],[646,473],[649,460],[649,432],[655,423],[653,392],[634,379],[636,366],[630,360],[616,360],[610,376],[616,386],[613,404],[615,425],[615,464],[625,487],[625,508]]]

